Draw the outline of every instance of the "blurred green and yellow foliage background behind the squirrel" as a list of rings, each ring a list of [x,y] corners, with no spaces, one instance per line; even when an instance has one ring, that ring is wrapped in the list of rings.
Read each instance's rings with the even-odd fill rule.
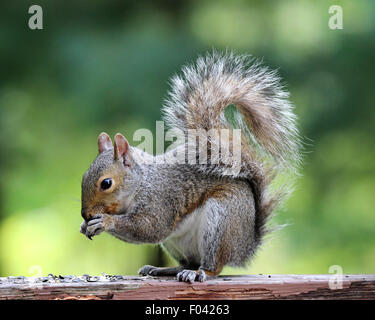
[[[39,4],[44,29],[28,28]],[[344,29],[328,28],[343,8]],[[279,68],[305,137],[302,176],[247,269],[375,273],[375,2],[3,1],[0,275],[135,274],[156,246],[79,233],[101,131],[155,131],[169,77],[207,50]],[[138,143],[135,143],[138,144]]]

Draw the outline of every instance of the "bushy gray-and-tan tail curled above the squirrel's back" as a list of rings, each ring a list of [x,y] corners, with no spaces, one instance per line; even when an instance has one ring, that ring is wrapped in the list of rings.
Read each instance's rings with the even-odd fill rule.
[[[288,92],[275,71],[247,55],[216,52],[200,57],[172,78],[164,105],[164,118],[171,128],[230,128],[224,110],[234,105],[234,120],[249,138],[242,142],[245,166],[251,171],[258,203],[259,230],[279,203],[280,192],[268,192],[273,173],[295,169],[299,164],[296,116]],[[272,178],[270,178],[272,177]]]

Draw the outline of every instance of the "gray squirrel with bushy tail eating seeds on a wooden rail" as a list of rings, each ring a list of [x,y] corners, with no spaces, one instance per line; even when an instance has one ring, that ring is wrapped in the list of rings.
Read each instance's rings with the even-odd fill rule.
[[[272,181],[283,172],[296,173],[300,163],[288,97],[276,72],[250,56],[199,57],[172,78],[164,120],[184,134],[240,128],[239,170],[228,173],[228,164],[213,158],[193,164],[158,161],[189,142],[153,156],[130,146],[121,134],[112,144],[101,133],[99,154],[82,179],[81,232],[90,239],[106,231],[131,243],[161,244],[179,263],[146,265],[140,275],[191,283],[218,275],[225,265],[244,266],[290,190],[270,188]],[[232,121],[224,115],[231,105],[236,107]],[[210,158],[221,145],[206,138]],[[229,135],[229,148],[233,139]]]

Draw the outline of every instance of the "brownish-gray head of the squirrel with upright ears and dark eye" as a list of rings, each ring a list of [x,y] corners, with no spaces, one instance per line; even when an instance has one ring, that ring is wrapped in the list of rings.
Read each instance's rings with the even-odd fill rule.
[[[99,154],[82,178],[82,217],[97,213],[116,214],[126,209],[131,197],[135,162],[131,147],[121,134],[114,145],[106,133],[98,137]]]

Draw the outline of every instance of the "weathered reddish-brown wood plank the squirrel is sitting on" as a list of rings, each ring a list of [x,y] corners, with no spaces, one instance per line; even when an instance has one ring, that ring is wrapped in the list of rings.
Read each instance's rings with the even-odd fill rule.
[[[0,278],[0,300],[375,299],[375,275],[343,275],[342,289],[330,289],[330,279],[332,275],[246,275],[187,284],[151,277],[8,277]]]

